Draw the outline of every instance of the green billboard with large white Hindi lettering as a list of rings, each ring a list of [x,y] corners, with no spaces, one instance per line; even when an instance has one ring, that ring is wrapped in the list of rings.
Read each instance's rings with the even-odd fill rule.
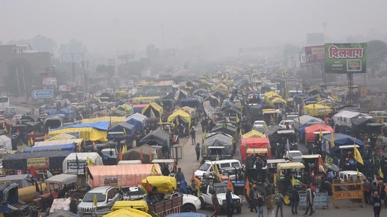
[[[366,73],[367,43],[325,44],[326,73]]]

